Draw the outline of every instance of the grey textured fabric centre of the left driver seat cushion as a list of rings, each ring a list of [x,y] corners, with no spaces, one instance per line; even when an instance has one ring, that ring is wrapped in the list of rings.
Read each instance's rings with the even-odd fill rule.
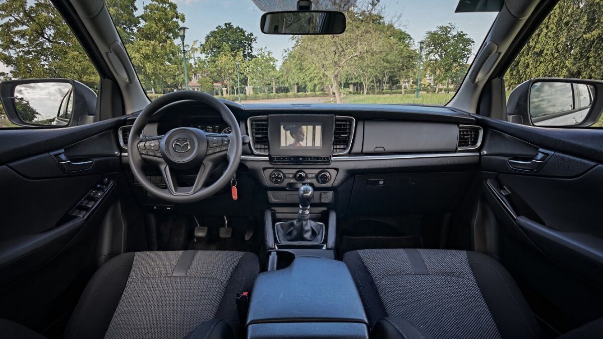
[[[182,338],[215,317],[243,252],[137,252],[105,338]],[[182,276],[181,258],[191,264]],[[175,268],[178,266],[178,269]],[[234,296],[233,296],[234,297]]]

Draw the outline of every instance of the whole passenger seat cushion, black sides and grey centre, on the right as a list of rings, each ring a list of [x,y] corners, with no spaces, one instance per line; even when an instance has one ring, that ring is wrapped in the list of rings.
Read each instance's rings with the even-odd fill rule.
[[[348,252],[371,335],[389,338],[540,338],[534,314],[502,265],[458,250]]]

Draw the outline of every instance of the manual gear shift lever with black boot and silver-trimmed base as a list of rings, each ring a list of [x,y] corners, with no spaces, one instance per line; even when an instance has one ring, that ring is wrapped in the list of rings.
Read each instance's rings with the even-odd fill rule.
[[[298,191],[300,209],[297,220],[287,221],[276,225],[276,233],[283,243],[291,242],[320,242],[323,238],[323,224],[310,220],[310,204],[314,197],[314,188],[303,185]],[[317,240],[318,239],[318,240]]]

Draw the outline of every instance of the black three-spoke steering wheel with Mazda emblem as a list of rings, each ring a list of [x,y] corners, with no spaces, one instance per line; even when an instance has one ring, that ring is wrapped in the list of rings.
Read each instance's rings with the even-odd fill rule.
[[[205,133],[198,128],[178,127],[165,135],[142,138],[142,130],[158,110],[182,100],[194,100],[216,109],[232,130],[230,133]],[[145,107],[132,125],[128,138],[128,162],[134,178],[144,189],[172,203],[191,203],[216,194],[234,177],[241,160],[241,129],[230,109],[218,99],[203,92],[181,90],[171,92]],[[153,185],[142,171],[145,160],[156,165],[165,180],[167,189]],[[215,183],[204,187],[210,172],[220,163],[227,162],[226,170]],[[179,186],[174,170],[197,169],[192,186]]]

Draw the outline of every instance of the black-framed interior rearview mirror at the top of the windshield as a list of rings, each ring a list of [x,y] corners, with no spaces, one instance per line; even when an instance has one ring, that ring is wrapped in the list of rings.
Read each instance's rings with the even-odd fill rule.
[[[346,16],[338,11],[280,11],[264,13],[260,29],[265,34],[341,34]]]

